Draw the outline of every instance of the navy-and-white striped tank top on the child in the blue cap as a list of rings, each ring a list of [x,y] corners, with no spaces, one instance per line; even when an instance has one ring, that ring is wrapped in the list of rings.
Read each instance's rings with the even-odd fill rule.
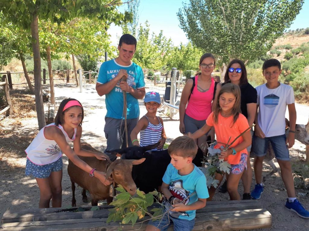
[[[144,116],[147,118],[146,115]],[[148,118],[147,120],[148,120],[147,128],[145,130],[140,131],[139,145],[141,147],[157,143],[161,139],[161,136],[162,136],[163,125],[161,124],[159,118],[158,118],[159,124],[157,125],[151,124]],[[160,149],[160,150],[163,150],[163,149]],[[159,150],[157,148],[154,148],[151,151],[159,151]]]

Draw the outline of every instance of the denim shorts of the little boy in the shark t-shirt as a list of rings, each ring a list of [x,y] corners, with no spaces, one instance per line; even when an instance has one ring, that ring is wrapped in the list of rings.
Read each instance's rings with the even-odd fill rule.
[[[163,213],[166,212],[166,209],[163,210]],[[162,220],[149,221],[148,225],[153,225],[158,228],[158,230],[166,231],[168,226],[174,223],[174,231],[189,231],[194,227],[195,219],[191,221],[175,218],[168,216],[167,213],[164,214]]]

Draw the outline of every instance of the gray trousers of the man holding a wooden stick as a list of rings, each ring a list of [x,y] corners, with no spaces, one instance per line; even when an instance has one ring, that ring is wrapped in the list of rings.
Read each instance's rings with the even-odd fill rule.
[[[130,138],[130,134],[133,128],[135,128],[137,122],[138,122],[138,118],[127,120],[129,147],[133,146],[131,138]],[[121,124],[121,120],[119,119],[105,117],[104,133],[105,133],[105,138],[107,140],[107,148],[105,149],[105,151],[107,150],[111,151],[111,150],[126,146],[124,130],[125,130],[125,120],[123,120]],[[123,134],[122,137],[121,137],[121,134]],[[115,155],[109,154],[107,152],[105,153],[109,156],[111,161],[116,160]]]

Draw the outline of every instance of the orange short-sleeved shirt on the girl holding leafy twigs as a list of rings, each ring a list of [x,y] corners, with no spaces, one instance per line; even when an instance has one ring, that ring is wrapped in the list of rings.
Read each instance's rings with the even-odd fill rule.
[[[221,146],[225,147],[224,144],[227,144],[229,138],[231,137],[229,144],[231,144],[231,142],[233,140],[235,140],[235,138],[237,136],[239,136],[242,132],[244,132],[247,128],[249,128],[249,124],[248,124],[248,120],[246,119],[246,117],[243,114],[239,113],[238,119],[236,120],[235,124],[233,124],[233,116],[229,116],[229,117],[223,117],[221,115],[221,113],[219,113],[218,116],[218,123],[215,124],[214,123],[214,118],[213,118],[214,112],[211,112],[210,115],[208,116],[207,120],[206,120],[206,124],[208,126],[213,126],[214,127],[214,131],[216,133],[217,136],[217,142],[218,144],[215,145],[214,148],[220,148]],[[223,144],[221,144],[221,143]],[[232,145],[231,147],[235,147],[238,144],[240,144],[241,142],[243,142],[243,137],[240,136]],[[247,149],[243,149],[240,152],[237,152],[236,155],[229,155],[227,158],[225,158],[224,160],[228,161],[229,164],[239,164],[240,161],[240,156],[241,153],[246,153],[248,155]]]

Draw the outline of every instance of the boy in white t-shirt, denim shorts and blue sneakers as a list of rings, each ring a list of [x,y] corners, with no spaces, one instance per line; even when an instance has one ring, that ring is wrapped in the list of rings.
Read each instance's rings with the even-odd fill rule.
[[[262,167],[268,142],[270,141],[288,194],[285,207],[297,213],[300,217],[309,218],[309,212],[299,203],[295,196],[294,179],[288,150],[288,148],[292,148],[295,142],[296,109],[293,88],[278,82],[279,75],[281,74],[281,64],[277,59],[266,60],[262,69],[267,83],[256,87],[256,125],[252,139],[252,152],[256,156],[253,164],[256,185],[251,192],[251,197],[252,199],[259,200],[261,193],[264,192]],[[289,110],[290,119],[290,130],[287,137],[285,134],[286,106]]]

